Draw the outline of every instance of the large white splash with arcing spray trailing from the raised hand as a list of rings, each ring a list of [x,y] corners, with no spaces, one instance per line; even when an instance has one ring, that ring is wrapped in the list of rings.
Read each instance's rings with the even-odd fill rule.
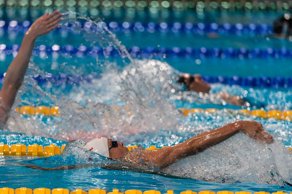
[[[74,17],[71,17],[72,14]],[[81,92],[75,93],[82,100],[79,104],[66,97],[75,94],[74,92],[70,93],[70,91],[69,94],[66,94],[64,87],[54,88],[51,84],[39,87],[30,76],[38,74],[45,77],[46,72],[39,70],[31,62],[25,83],[19,90],[22,99],[18,97],[15,104],[36,106],[45,103],[49,106],[59,106],[61,117],[19,116],[12,112],[7,126],[9,130],[17,130],[30,135],[46,134],[63,140],[76,138],[88,140],[99,135],[115,137],[118,134],[175,128],[177,110],[171,102],[160,95],[161,87],[156,88],[156,85],[149,82],[150,79],[157,79],[155,73],[152,73],[154,75],[151,77],[147,77],[147,72],[144,72],[143,68],[139,68],[140,65],[147,64],[148,68],[153,67],[154,71],[158,72],[163,68],[162,65],[165,67],[165,64],[160,61],[131,59],[125,47],[104,26],[103,22],[95,22],[76,13],[66,13],[63,17],[62,27],[82,34],[85,40],[91,42],[92,46],[98,43],[104,50],[105,59],[108,56],[109,50],[107,49],[112,46],[118,51],[124,64],[128,64],[127,59],[130,64],[119,71],[121,67],[115,62],[99,60],[100,56],[96,56],[95,66],[103,70],[102,79],[94,80],[92,84],[81,85],[83,89],[77,85],[70,89],[72,91],[86,91],[86,98],[80,94]],[[82,28],[81,23],[84,23]],[[66,60],[66,57],[61,57],[61,59]],[[67,57],[67,60],[66,68],[59,67],[60,73],[68,71],[70,69],[68,66],[72,66],[71,74],[76,73],[74,67],[77,64],[70,61],[70,57]],[[160,79],[162,78],[160,77]],[[107,79],[112,80],[112,82],[107,82]],[[32,95],[34,95],[33,99],[30,97]],[[89,98],[90,96],[94,98]],[[100,98],[100,96],[106,97],[107,100]],[[74,100],[78,99],[74,98]],[[108,105],[109,102],[111,105]]]

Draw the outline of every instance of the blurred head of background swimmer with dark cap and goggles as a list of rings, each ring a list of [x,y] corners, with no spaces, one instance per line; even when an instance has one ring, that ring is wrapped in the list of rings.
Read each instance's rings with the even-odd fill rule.
[[[185,85],[189,90],[208,93],[211,89],[210,85],[204,82],[200,74],[195,74],[192,76],[189,73],[184,73],[183,77],[185,79]]]

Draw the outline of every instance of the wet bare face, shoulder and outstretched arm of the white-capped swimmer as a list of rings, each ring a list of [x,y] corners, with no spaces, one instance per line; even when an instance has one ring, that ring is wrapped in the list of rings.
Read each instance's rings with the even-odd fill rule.
[[[264,130],[262,124],[256,121],[234,121],[223,127],[195,135],[180,144],[159,150],[142,150],[142,154],[128,152],[128,149],[123,147],[123,143],[119,142],[118,147],[109,150],[109,156],[111,158],[135,162],[137,164],[141,164],[141,157],[143,157],[147,158],[147,163],[156,164],[160,169],[163,169],[175,161],[195,155],[208,147],[223,142],[239,132],[246,133],[249,137],[260,143],[273,142],[272,135]],[[111,140],[108,139],[108,146],[110,146],[110,141]]]

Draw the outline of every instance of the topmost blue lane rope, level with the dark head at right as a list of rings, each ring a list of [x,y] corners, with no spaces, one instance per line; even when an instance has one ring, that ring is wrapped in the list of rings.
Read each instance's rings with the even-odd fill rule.
[[[23,21],[23,22],[17,22],[17,21],[4,21],[0,20],[0,30],[5,30],[9,33],[9,31],[26,31],[30,25],[32,24],[31,21]],[[78,23],[78,21],[75,22],[76,25],[80,26],[81,28],[87,28],[87,29],[93,29],[93,25],[91,25],[91,22],[85,22],[85,23]],[[102,25],[106,25],[110,30],[115,32],[127,32],[129,30],[136,31],[136,32],[172,32],[172,33],[195,33],[195,34],[206,34],[206,33],[219,33],[219,34],[235,34],[235,35],[256,35],[256,34],[271,34],[273,27],[268,24],[230,24],[230,23],[224,23],[224,24],[217,24],[217,23],[211,23],[211,24],[204,24],[204,23],[147,23],[142,24],[141,22],[123,22],[123,23],[117,23],[117,22],[109,22],[106,24],[103,22]],[[64,28],[59,28],[58,31],[69,31]]]

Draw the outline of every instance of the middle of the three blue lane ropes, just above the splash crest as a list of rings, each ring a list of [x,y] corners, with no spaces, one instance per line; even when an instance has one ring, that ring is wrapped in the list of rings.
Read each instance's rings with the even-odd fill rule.
[[[19,45],[5,45],[0,44],[0,54],[10,55],[14,52],[17,52],[19,49]],[[129,53],[132,57],[147,57],[151,54],[156,54],[156,56],[163,56],[166,54],[169,57],[186,57],[186,58],[239,58],[239,59],[253,59],[253,58],[292,58],[292,49],[281,48],[281,49],[273,49],[273,48],[253,48],[253,49],[246,49],[242,48],[192,48],[192,47],[138,47],[133,46],[128,48]],[[85,45],[81,45],[79,47],[74,47],[72,45],[60,46],[60,45],[53,45],[53,46],[46,46],[46,45],[39,45],[36,47],[33,54],[51,54],[51,53],[59,53],[59,54],[72,54],[76,55],[77,57],[84,57],[84,56],[113,56],[118,57],[119,53],[117,50],[113,49],[113,47],[109,46],[106,47],[104,50],[102,47],[94,46],[94,47],[86,47]]]

